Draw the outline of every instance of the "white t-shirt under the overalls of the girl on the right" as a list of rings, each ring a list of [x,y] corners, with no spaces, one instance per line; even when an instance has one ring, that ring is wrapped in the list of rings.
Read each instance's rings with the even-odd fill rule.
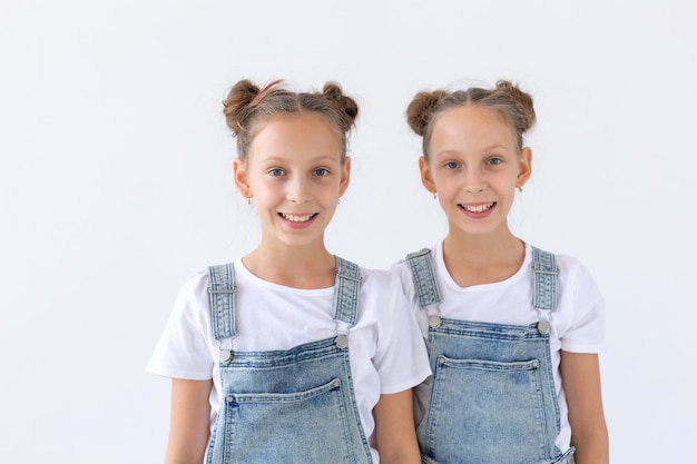
[[[561,432],[557,447],[565,452],[570,446],[571,427],[568,407],[559,372],[560,351],[571,353],[600,353],[605,345],[605,302],[588,270],[573,257],[556,255],[559,266],[557,284],[558,306],[550,315],[550,351],[552,373],[559,409]],[[443,246],[431,249],[435,278],[441,292],[439,312],[442,317],[461,320],[485,322],[527,326],[539,320],[532,307],[532,249],[526,246],[526,258],[518,272],[505,280],[492,284],[460,287],[445,268]],[[425,308],[420,308],[409,263],[402,259],[392,266],[400,276],[404,293],[421,333],[428,339],[429,322]],[[528,310],[526,310],[528,308]],[[428,384],[416,388],[415,418],[423,418],[429,402]]]

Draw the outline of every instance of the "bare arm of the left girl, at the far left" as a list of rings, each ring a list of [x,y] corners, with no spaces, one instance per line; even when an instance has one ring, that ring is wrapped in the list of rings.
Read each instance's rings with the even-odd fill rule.
[[[208,443],[213,381],[171,381],[166,464],[200,464]]]

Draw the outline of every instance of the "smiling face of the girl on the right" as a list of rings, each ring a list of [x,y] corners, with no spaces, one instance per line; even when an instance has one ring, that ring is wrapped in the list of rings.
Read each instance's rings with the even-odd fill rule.
[[[429,160],[421,158],[424,187],[438,192],[451,229],[508,233],[516,187],[530,178],[531,151],[518,151],[511,127],[494,110],[453,108],[434,124]]]

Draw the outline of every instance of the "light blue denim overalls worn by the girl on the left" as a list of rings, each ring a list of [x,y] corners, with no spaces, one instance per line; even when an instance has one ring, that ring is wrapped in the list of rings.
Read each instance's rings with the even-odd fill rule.
[[[348,363],[347,336],[357,317],[361,274],[355,264],[338,257],[336,267],[336,336],[271,352],[232,349],[233,265],[209,267],[223,402],[207,464],[372,463]]]

